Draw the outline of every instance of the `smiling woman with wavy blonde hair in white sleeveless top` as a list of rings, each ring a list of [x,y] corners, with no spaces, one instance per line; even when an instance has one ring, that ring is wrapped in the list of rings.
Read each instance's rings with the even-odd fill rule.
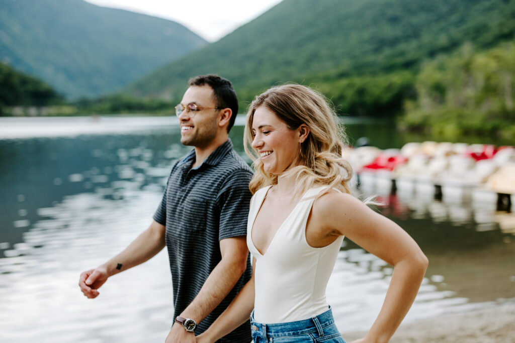
[[[325,287],[344,236],[394,266],[383,307],[357,342],[387,342],[408,312],[427,259],[397,224],[350,194],[352,169],[335,114],[313,89],[273,87],[251,103],[245,148],[254,159],[247,224],[251,280],[197,337],[214,342],[251,315],[255,343],[344,342]]]

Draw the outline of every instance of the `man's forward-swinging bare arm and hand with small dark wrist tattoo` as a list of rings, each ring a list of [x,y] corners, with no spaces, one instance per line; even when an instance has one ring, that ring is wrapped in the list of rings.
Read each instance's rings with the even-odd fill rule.
[[[127,248],[118,255],[95,269],[83,272],[79,278],[79,287],[84,296],[96,298],[98,288],[110,276],[139,265],[163,249],[165,246],[165,227],[156,221],[143,231]]]

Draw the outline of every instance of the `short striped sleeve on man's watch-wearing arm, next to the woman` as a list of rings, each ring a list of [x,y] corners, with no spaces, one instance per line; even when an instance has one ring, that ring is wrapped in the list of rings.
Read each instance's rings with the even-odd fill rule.
[[[246,236],[252,194],[249,183],[252,179],[250,170],[239,169],[230,174],[218,193],[220,206],[220,223],[218,240]]]

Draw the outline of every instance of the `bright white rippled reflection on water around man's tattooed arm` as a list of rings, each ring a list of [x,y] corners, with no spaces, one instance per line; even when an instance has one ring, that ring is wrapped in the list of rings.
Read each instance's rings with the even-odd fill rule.
[[[0,259],[0,341],[162,341],[173,315],[162,253],[113,277],[98,301],[77,294],[79,270],[127,245],[159,201],[154,191],[119,191],[123,202],[101,192],[66,196],[8,250],[13,257]]]

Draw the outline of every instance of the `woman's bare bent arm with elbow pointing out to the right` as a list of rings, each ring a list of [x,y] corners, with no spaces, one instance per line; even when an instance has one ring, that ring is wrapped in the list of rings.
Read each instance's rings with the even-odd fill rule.
[[[419,290],[427,258],[399,225],[374,212],[350,194],[330,192],[313,204],[312,223],[319,237],[345,235],[393,266],[385,301],[367,335],[358,342],[388,342]]]

